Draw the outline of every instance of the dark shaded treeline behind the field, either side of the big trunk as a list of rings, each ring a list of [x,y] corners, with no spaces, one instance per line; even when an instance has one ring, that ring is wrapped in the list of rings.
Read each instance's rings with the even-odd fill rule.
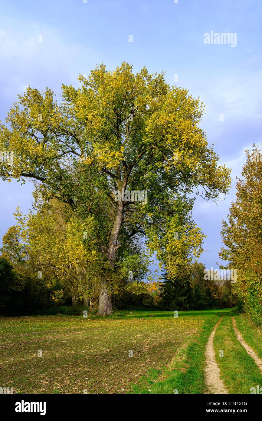
[[[11,232],[16,234],[15,227]],[[4,237],[6,240],[6,237]],[[19,246],[19,241],[16,241]],[[32,258],[13,261],[2,248],[6,257],[0,256],[0,313],[9,316],[29,314],[82,314],[83,309],[96,313],[98,290],[85,299],[81,294],[72,295],[58,278],[45,274],[40,276],[39,267]],[[21,251],[21,250],[20,250]],[[11,248],[9,248],[11,252]],[[214,282],[204,280],[204,265],[195,263],[187,277],[169,280],[164,273],[160,282],[143,282],[122,279],[118,292],[112,294],[114,309],[164,309],[190,310],[232,307],[237,303],[230,281]]]

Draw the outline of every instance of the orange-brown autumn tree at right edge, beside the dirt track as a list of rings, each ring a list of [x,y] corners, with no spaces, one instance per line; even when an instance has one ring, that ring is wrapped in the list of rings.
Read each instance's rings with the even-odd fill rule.
[[[246,312],[262,323],[262,153],[254,145],[246,157],[243,179],[236,183],[236,200],[228,221],[222,221],[225,247],[220,257],[237,271],[233,291]]]

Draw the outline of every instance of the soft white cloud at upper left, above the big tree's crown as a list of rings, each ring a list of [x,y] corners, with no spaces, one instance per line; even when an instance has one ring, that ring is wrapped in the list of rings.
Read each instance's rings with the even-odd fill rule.
[[[10,97],[10,92],[21,93],[29,84],[41,89],[47,85],[60,88],[62,82],[76,85],[81,71],[89,73],[81,62],[86,62],[89,55],[88,47],[72,43],[58,31],[42,24],[34,23],[26,29],[2,28],[2,95]]]

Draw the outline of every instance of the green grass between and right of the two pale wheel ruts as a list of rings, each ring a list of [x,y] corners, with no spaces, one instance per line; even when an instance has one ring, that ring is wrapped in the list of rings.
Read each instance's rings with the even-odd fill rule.
[[[246,332],[244,339],[251,338],[251,330],[248,331],[247,320],[239,320],[241,316],[235,316],[238,320],[238,325],[241,333]],[[247,333],[249,332],[249,333]],[[257,341],[246,340],[246,342],[253,346]],[[262,345],[260,335],[260,347]],[[253,348],[255,350],[255,347]],[[224,381],[229,393],[250,393],[251,387],[256,387],[257,384],[262,386],[262,375],[254,362],[253,358],[247,354],[246,349],[240,344],[236,338],[236,333],[233,329],[230,314],[225,315],[214,336],[214,350],[216,360],[220,368],[221,378]],[[224,356],[220,357],[220,350],[223,350]]]

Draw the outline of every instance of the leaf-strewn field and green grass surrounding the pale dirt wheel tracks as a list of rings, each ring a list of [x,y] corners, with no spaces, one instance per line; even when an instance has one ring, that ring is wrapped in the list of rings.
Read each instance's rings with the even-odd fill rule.
[[[125,311],[106,318],[2,318],[0,386],[13,387],[17,393],[205,393],[204,350],[221,316],[214,344],[228,350],[229,359],[218,361],[227,385],[232,381],[226,374],[232,352],[239,369],[243,350],[233,337],[230,312],[179,312],[177,318],[163,311]],[[236,319],[245,340],[261,355],[261,332],[252,326],[245,331],[247,320]],[[226,343],[223,330],[231,335]],[[250,382],[259,381],[259,372],[247,357],[244,369],[240,364],[239,378],[251,369]],[[240,393],[248,393],[241,387]]]

